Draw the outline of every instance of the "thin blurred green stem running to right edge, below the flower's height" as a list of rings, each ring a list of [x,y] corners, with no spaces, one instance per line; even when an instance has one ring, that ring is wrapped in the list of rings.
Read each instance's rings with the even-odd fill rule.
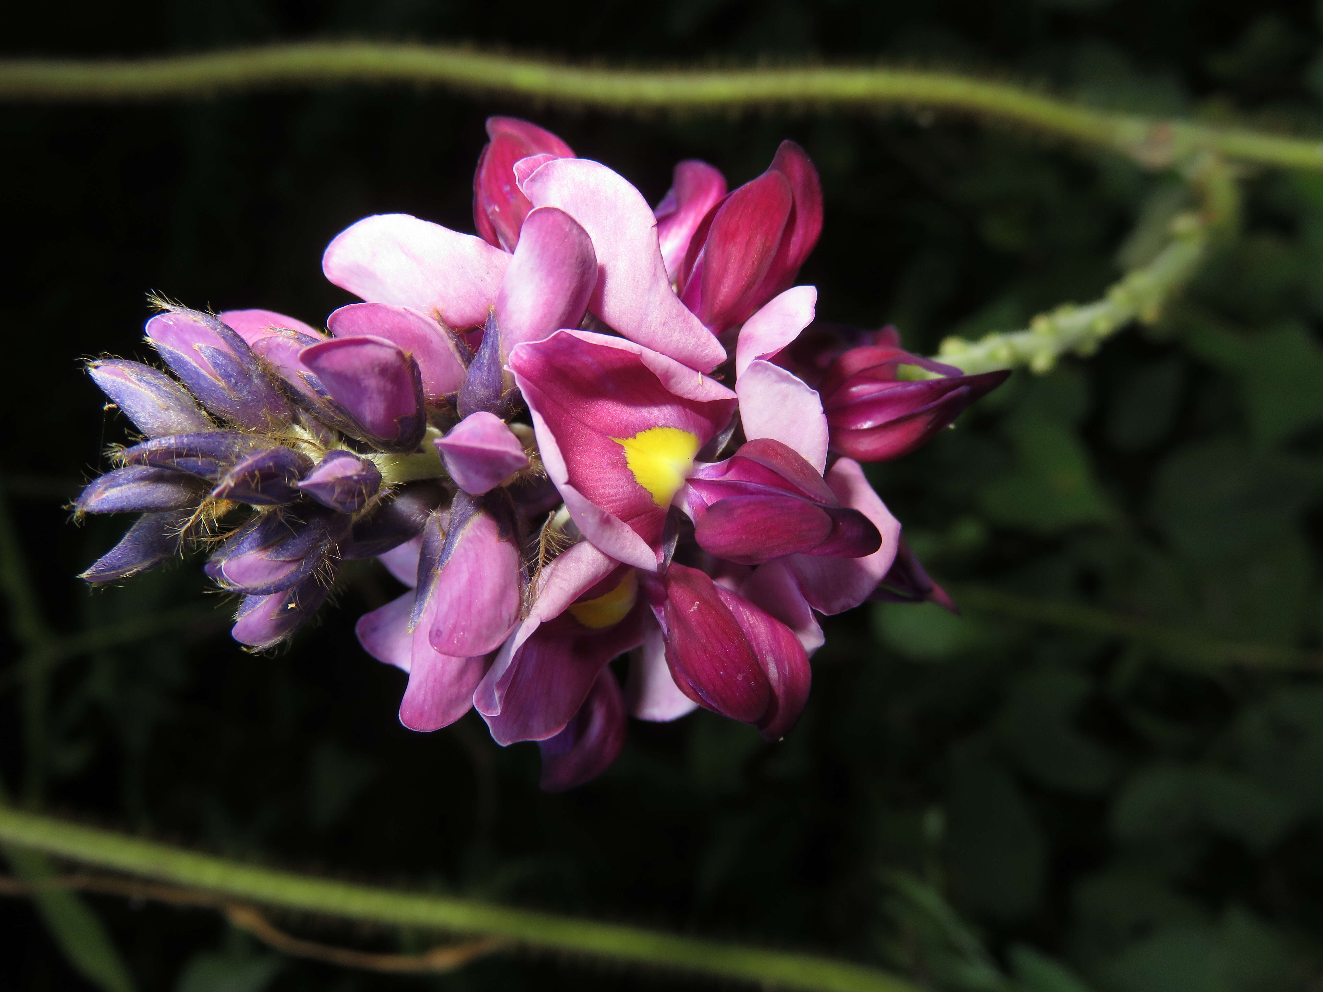
[[[1004,593],[987,586],[949,586],[963,610],[1009,620],[1058,627],[1102,638],[1122,638],[1155,648],[1167,657],[1215,668],[1244,665],[1266,669],[1323,668],[1323,655],[1277,644],[1217,640],[1184,627],[1135,620],[1110,610]]]

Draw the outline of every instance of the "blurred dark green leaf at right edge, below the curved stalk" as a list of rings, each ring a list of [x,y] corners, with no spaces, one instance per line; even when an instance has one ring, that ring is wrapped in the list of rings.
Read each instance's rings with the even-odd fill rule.
[[[1192,325],[1187,343],[1197,356],[1240,380],[1259,447],[1323,421],[1323,348],[1303,324],[1291,321],[1238,335],[1201,321]]]

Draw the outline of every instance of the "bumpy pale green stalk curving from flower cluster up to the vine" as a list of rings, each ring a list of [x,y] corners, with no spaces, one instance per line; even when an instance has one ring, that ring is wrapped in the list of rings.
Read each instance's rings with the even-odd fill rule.
[[[995,331],[978,341],[947,337],[938,358],[966,373],[1017,365],[1043,373],[1062,354],[1093,354],[1107,336],[1134,320],[1156,323],[1240,214],[1240,190],[1225,163],[1200,156],[1189,163],[1187,175],[1200,194],[1200,209],[1175,217],[1167,246],[1148,265],[1126,272],[1101,300],[1065,303],[1033,317],[1024,331]]]

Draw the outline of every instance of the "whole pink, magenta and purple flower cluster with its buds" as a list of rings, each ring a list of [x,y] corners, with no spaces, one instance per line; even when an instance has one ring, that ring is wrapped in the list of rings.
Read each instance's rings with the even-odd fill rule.
[[[407,675],[400,720],[476,708],[501,745],[540,743],[548,790],[605,770],[627,716],[701,706],[778,739],[820,615],[951,606],[860,462],[913,450],[1003,376],[890,332],[806,332],[816,291],[792,283],[823,208],[794,143],[733,192],[680,163],[654,210],[534,124],[487,131],[478,235],[349,226],[323,271],[359,302],[324,329],[169,306],[147,324],[168,373],[90,362],[142,438],[74,511],[140,516],[83,578],[204,546],[239,597],[234,638],[265,649],[343,561],[376,557],[407,589],[356,631]]]

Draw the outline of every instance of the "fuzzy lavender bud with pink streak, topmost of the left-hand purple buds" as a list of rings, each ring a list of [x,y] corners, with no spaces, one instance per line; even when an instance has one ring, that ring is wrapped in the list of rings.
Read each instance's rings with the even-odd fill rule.
[[[253,349],[218,319],[192,310],[159,313],[147,321],[147,340],[212,413],[250,430],[292,415]]]

